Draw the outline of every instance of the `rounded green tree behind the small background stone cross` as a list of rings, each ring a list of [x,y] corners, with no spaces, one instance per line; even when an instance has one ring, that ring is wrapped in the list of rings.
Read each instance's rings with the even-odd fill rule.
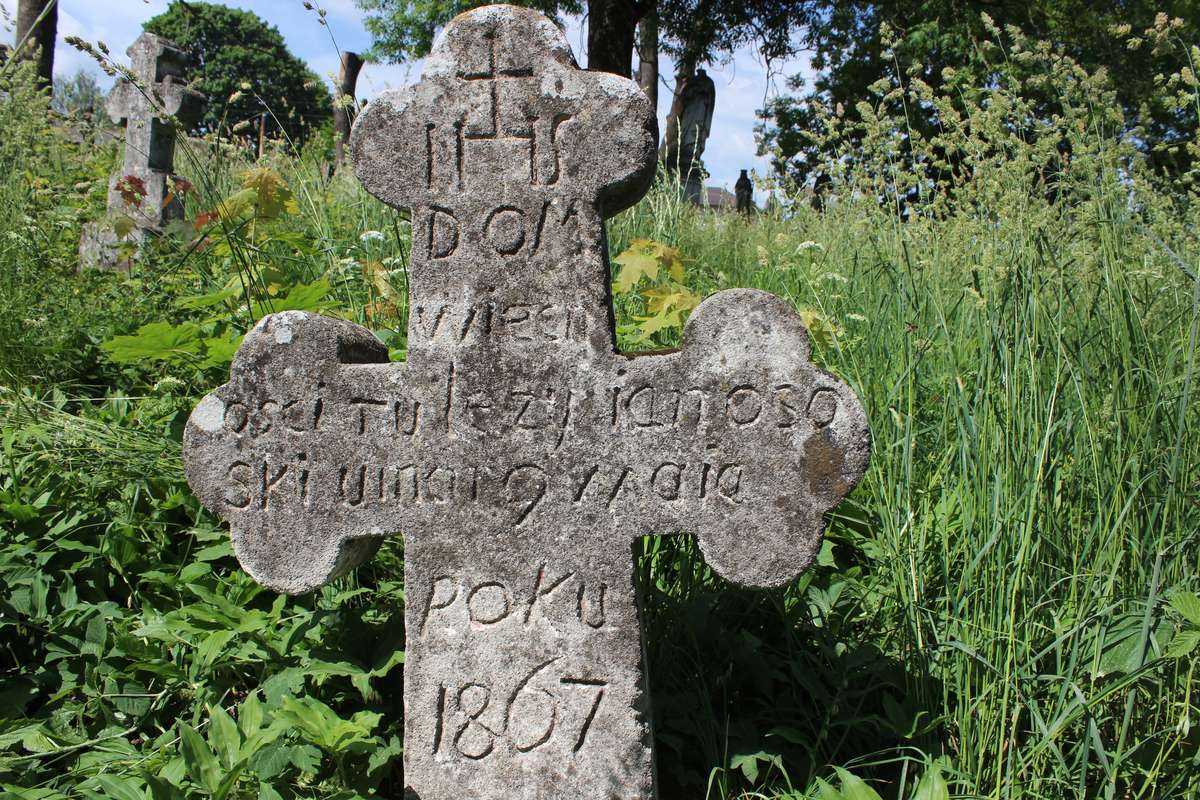
[[[274,25],[248,11],[173,0],[145,29],[192,53],[190,77],[208,95],[203,130],[268,114],[268,130],[304,139],[332,114],[329,90],[283,43]]]

